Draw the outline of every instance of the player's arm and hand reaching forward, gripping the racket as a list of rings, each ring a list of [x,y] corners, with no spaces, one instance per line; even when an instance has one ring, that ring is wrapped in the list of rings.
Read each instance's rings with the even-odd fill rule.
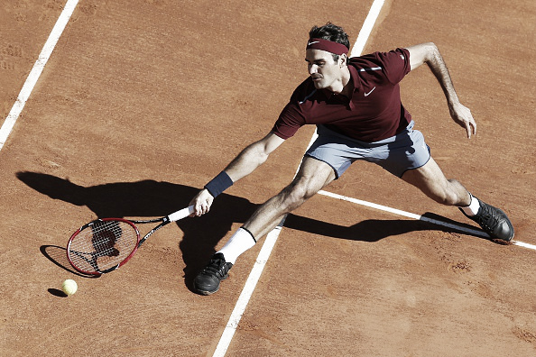
[[[237,180],[244,178],[261,166],[282,142],[284,142],[284,139],[274,133],[269,133],[258,142],[248,145],[227,165],[226,169],[208,182],[205,188],[201,189],[196,197],[190,201],[189,204],[194,206],[192,215],[206,214],[210,210],[215,197]]]

